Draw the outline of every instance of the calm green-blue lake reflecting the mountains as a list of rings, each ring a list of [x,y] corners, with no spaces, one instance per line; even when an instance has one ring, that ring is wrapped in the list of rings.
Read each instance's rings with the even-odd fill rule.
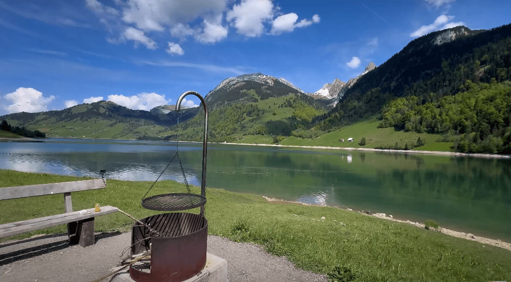
[[[154,181],[175,142],[48,138],[0,142],[0,169]],[[202,143],[179,143],[200,186]],[[177,159],[176,159],[177,160]],[[160,179],[183,182],[174,161]],[[208,144],[207,187],[385,213],[511,241],[511,159]],[[0,184],[1,184],[0,179]],[[183,192],[185,192],[183,186]]]

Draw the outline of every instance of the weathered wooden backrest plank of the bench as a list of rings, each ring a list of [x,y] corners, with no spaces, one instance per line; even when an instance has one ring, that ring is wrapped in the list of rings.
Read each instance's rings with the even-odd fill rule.
[[[105,188],[103,179],[0,188],[0,200],[70,193]]]

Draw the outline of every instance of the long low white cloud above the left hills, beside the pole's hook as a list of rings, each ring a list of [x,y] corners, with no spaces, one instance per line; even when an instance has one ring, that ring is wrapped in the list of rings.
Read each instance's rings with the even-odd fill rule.
[[[112,101],[133,110],[148,111],[156,106],[167,105],[171,100],[166,100],[165,95],[158,95],[154,92],[143,92],[130,97],[124,95],[109,95],[108,101]]]

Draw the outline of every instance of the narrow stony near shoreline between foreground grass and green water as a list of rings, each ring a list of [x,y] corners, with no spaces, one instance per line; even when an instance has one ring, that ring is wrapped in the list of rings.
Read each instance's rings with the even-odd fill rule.
[[[341,208],[341,207],[338,207],[338,206],[308,204],[308,203],[297,202],[297,201],[287,201],[287,200],[275,199],[275,198],[270,198],[270,197],[266,197],[266,196],[261,196],[261,197],[265,198],[268,202],[274,202],[276,204],[301,204],[301,205],[308,205],[308,206],[324,206],[324,207],[328,206],[328,207],[335,207],[335,208],[339,208],[339,209],[344,209],[344,208]],[[410,225],[413,225],[413,226],[419,227],[419,228],[426,228],[426,226],[423,223],[411,222],[409,220],[395,219],[395,218],[392,217],[392,215],[388,215],[387,216],[386,214],[383,214],[383,213],[368,214],[368,212],[364,213],[363,210],[362,211],[357,211],[357,210],[353,210],[351,208],[345,208],[344,210],[347,210],[347,211],[353,212],[353,213],[358,213],[358,214],[365,215],[365,216],[371,216],[371,217],[376,217],[376,218],[380,218],[380,219],[386,219],[386,220],[390,220],[390,221],[394,221],[394,222],[406,223],[406,224],[410,224]],[[434,231],[434,229],[431,229],[431,230]],[[437,232],[440,232],[440,233],[443,233],[443,234],[447,234],[447,235],[450,235],[450,236],[453,236],[453,237],[461,238],[461,239],[466,239],[466,240],[470,240],[470,241],[476,241],[476,242],[479,242],[481,244],[487,244],[487,245],[492,245],[492,246],[495,246],[495,247],[500,247],[500,248],[507,249],[507,250],[511,251],[511,243],[503,242],[503,241],[498,240],[498,239],[494,240],[494,239],[490,239],[490,238],[474,236],[474,234],[472,234],[472,233],[465,233],[465,232],[455,231],[455,230],[451,230],[451,229],[447,229],[447,228],[443,228],[443,227],[439,227]]]

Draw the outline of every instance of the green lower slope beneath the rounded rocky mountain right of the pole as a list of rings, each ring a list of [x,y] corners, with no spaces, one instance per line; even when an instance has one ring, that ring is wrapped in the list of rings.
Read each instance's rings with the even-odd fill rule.
[[[322,105],[306,95],[290,93],[263,100],[253,89],[241,93],[249,99],[210,110],[208,140],[211,142],[240,142],[246,138],[249,143],[271,144],[272,136],[289,136],[293,130],[308,126],[314,117],[326,113]],[[199,111],[193,119],[161,134],[168,135],[168,139],[179,137],[200,142],[203,126],[204,114]]]

